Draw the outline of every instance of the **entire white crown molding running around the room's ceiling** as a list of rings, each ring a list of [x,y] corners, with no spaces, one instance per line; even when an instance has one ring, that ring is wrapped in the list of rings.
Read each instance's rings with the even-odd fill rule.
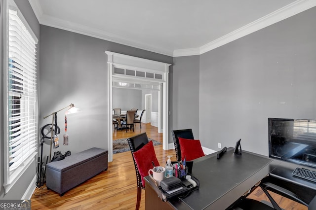
[[[258,20],[253,21],[227,35],[223,35],[207,44],[204,44],[196,48],[187,48],[187,49],[176,49],[168,50],[154,45],[148,45],[141,42],[137,42],[128,37],[121,35],[112,34],[106,31],[98,30],[92,27],[83,26],[77,23],[64,21],[57,18],[52,18],[50,16],[44,15],[42,8],[40,6],[39,0],[29,0],[36,17],[38,18],[40,24],[63,29],[70,32],[75,32],[82,35],[88,35],[95,38],[104,39],[107,41],[115,42],[118,44],[127,45],[130,47],[135,47],[171,57],[181,57],[181,56],[192,56],[192,55],[201,55],[208,51],[211,51],[217,47],[220,47],[224,44],[232,42],[238,38],[241,38],[245,35],[249,35],[253,32],[256,32],[260,29],[263,29],[267,26],[275,24],[279,21],[282,21],[286,18],[289,18],[293,15],[296,15],[300,12],[303,12],[307,9],[310,9],[316,6],[316,0],[296,0]]]

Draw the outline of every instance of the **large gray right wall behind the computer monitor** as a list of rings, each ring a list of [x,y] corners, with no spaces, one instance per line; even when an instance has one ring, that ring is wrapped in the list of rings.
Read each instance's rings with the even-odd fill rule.
[[[268,117],[316,119],[315,19],[316,7],[200,56],[203,146],[241,138],[268,155]]]

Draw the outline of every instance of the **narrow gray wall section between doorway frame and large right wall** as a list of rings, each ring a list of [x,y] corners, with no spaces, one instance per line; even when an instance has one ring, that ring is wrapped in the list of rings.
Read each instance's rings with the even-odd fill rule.
[[[199,137],[199,56],[175,57],[173,59],[172,96],[170,103],[171,131],[192,128],[195,139]]]

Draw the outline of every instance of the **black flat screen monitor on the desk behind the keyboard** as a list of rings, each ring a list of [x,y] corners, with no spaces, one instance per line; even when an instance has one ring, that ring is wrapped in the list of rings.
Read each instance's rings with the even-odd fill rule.
[[[316,120],[268,118],[269,157],[316,168]]]

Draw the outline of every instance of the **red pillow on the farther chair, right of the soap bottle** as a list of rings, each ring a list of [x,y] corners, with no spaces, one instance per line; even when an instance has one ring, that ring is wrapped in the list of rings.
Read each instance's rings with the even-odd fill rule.
[[[186,158],[187,161],[197,159],[204,156],[201,142],[199,140],[189,140],[179,137],[181,150],[181,158]]]

